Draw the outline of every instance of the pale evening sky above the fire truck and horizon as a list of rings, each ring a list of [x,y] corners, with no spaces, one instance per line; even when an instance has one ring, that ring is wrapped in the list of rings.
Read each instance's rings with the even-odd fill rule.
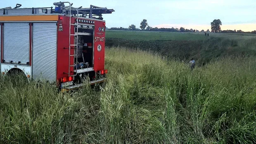
[[[55,0],[0,0],[0,8],[51,7]],[[73,7],[107,7],[106,26],[128,28],[147,19],[149,26],[158,28],[211,29],[211,22],[220,19],[222,30],[256,30],[256,0],[70,0]]]

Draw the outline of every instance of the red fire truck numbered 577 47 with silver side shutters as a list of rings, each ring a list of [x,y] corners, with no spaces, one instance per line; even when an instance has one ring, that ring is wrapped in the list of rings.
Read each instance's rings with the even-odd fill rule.
[[[104,68],[105,7],[74,8],[70,2],[53,7],[0,9],[0,70],[21,71],[28,79],[57,83],[61,89],[106,79]],[[65,6],[67,4],[68,6]]]

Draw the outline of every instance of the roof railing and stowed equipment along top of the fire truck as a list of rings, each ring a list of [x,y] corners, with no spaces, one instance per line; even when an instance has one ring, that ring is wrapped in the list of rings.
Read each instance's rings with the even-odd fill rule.
[[[65,14],[65,15],[78,15],[81,17],[95,18],[95,19],[103,19],[102,14],[111,14],[115,12],[114,9],[107,9],[107,7],[97,7],[94,5],[90,5],[90,8],[82,8],[82,7],[72,7],[73,3],[70,5],[71,12],[69,6],[64,5],[65,2],[54,2],[55,9],[53,7],[32,7],[32,8],[19,8],[21,4],[17,4],[16,7],[5,7],[0,9],[1,15],[30,15],[30,14]],[[76,10],[77,9],[77,10]],[[97,18],[98,17],[98,18]]]

